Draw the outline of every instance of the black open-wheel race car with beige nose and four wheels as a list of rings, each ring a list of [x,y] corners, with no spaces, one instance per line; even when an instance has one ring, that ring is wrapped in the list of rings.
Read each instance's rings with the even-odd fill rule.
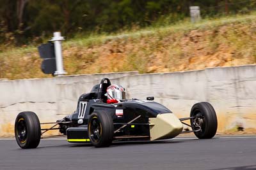
[[[216,113],[209,103],[196,103],[191,108],[190,117],[179,119],[168,108],[154,102],[154,97],[147,97],[147,100],[122,98],[118,103],[108,99],[106,92],[110,85],[108,78],[102,79],[90,93],[79,97],[74,113],[53,123],[40,124],[31,111],[19,113],[15,120],[17,144],[24,149],[36,148],[40,139],[67,136],[70,143],[104,147],[113,141],[155,141],[188,132],[194,132],[199,139],[209,139],[216,134]],[[184,120],[190,120],[190,125]],[[41,129],[45,124],[53,125]],[[182,124],[192,130],[184,131]],[[60,135],[42,136],[56,129]]]

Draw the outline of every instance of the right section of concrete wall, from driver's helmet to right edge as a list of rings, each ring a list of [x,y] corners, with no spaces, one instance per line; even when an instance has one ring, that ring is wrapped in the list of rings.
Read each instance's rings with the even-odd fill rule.
[[[120,78],[129,97],[155,101],[178,117],[189,117],[193,104],[207,101],[218,115],[218,132],[256,132],[256,66],[215,67],[200,71],[139,74]]]

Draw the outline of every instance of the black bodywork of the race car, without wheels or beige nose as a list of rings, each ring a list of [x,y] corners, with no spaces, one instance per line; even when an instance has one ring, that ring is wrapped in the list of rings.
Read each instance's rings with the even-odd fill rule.
[[[58,120],[61,134],[67,134],[70,142],[89,142],[87,124],[94,111],[105,111],[113,118],[114,140],[148,140],[150,139],[150,122],[148,118],[158,114],[171,114],[172,111],[154,101],[138,99],[125,100],[120,103],[107,104],[106,89],[111,85],[108,78],[102,79],[90,93],[83,94],[77,102],[77,109],[71,115]],[[147,99],[154,99],[148,97]]]

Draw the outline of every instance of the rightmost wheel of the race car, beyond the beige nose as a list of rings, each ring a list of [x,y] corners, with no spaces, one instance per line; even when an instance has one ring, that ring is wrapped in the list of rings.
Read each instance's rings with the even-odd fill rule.
[[[215,136],[218,121],[214,108],[210,103],[196,103],[191,108],[190,120],[195,136],[199,139],[211,139]],[[198,131],[199,130],[199,131]]]

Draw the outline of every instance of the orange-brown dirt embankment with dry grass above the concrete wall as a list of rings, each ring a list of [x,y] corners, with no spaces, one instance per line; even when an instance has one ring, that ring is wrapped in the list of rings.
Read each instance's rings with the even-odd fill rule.
[[[256,17],[255,17],[256,18]],[[147,31],[146,31],[147,32]],[[133,33],[131,33],[132,35]],[[256,63],[256,20],[194,29],[154,29],[100,42],[64,43],[68,74],[134,71],[159,73]],[[0,78],[49,77],[36,48],[0,53]]]

